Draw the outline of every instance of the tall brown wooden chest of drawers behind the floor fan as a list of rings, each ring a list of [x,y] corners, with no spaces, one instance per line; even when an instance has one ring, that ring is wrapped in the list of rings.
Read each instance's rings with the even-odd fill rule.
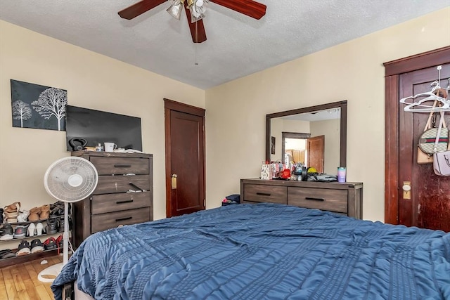
[[[72,156],[89,160],[98,172],[94,193],[74,204],[76,247],[92,233],[153,221],[153,155],[77,151]]]

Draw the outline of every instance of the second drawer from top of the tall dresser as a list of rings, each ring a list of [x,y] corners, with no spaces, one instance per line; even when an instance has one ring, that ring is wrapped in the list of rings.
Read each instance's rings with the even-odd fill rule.
[[[115,175],[115,176],[98,176],[97,188],[93,195],[109,194],[109,193],[125,193],[127,190],[150,190],[149,175]]]

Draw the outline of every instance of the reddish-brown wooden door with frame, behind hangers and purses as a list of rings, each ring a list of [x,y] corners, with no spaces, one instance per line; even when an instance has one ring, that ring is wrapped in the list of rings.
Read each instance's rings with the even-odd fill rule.
[[[450,178],[435,175],[432,164],[417,164],[418,138],[429,114],[404,112],[399,103],[400,98],[430,91],[437,65],[442,65],[440,85],[445,89],[450,47],[385,64],[385,221],[450,231]],[[411,183],[410,196],[404,193],[405,183]]]

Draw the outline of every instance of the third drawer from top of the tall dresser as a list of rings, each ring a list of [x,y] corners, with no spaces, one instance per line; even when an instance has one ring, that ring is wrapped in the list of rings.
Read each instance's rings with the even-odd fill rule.
[[[150,192],[94,195],[91,200],[91,214],[137,209],[148,207],[149,204]]]

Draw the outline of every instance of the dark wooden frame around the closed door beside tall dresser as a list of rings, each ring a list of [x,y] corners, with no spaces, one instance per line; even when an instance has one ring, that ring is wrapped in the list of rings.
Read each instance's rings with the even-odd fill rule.
[[[166,183],[166,217],[170,218],[172,216],[172,140],[170,136],[170,119],[172,115],[172,111],[176,112],[184,112],[189,115],[195,115],[198,117],[203,117],[203,124],[205,124],[205,109],[200,107],[195,107],[193,105],[188,105],[181,102],[176,102],[174,100],[170,100],[164,98],[164,115],[165,115],[165,183]],[[203,209],[206,207],[205,199],[206,199],[206,177],[205,177],[205,157],[206,157],[206,148],[205,148],[205,125],[203,125],[203,161],[202,170],[203,171],[203,188],[200,187],[200,190],[203,190]]]

